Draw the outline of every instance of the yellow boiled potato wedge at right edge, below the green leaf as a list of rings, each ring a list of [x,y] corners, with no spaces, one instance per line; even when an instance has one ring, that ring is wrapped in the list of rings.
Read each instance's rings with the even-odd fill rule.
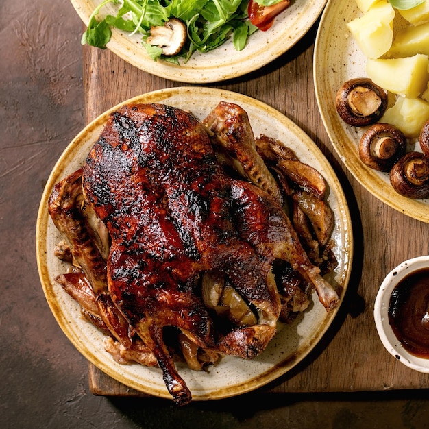
[[[387,56],[411,57],[416,53],[429,55],[429,22],[417,27],[406,27],[397,32]]]

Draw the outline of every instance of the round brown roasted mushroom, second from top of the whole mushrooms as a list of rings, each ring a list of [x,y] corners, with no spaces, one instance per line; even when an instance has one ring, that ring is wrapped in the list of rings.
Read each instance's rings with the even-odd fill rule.
[[[371,169],[390,171],[405,149],[406,137],[401,130],[389,123],[376,123],[360,138],[359,157]]]

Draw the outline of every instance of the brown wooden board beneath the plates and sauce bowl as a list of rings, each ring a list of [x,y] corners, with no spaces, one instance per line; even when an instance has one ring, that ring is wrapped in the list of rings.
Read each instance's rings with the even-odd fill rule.
[[[385,391],[429,386],[429,374],[397,362],[382,346],[373,303],[384,275],[402,260],[428,254],[429,225],[378,201],[345,171],[324,130],[315,99],[312,54],[315,27],[281,58],[251,75],[210,84],[263,101],[302,128],[330,160],[347,195],[354,228],[354,261],[345,300],[314,350],[265,391]],[[86,121],[136,95],[188,86],[149,75],[110,51],[84,47]],[[336,90],[332,88],[332,90]],[[141,395],[89,367],[96,395]]]

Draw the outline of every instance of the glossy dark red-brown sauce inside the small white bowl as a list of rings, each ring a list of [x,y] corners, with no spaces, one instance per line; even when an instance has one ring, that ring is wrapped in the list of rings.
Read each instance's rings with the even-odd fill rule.
[[[393,289],[389,323],[410,354],[429,358],[429,326],[421,323],[429,305],[429,268],[410,273]]]

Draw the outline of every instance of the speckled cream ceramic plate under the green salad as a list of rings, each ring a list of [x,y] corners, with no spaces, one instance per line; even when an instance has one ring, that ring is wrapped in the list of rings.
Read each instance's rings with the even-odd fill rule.
[[[101,3],[99,0],[71,0],[77,14],[88,25],[90,14]],[[147,56],[138,35],[112,30],[107,47],[130,64],[153,75],[176,82],[207,83],[232,79],[260,69],[286,52],[306,34],[320,15],[326,0],[293,0],[267,32],[256,32],[245,49],[237,52],[228,41],[208,53],[195,53],[186,64],[177,66],[168,62],[154,62]],[[114,5],[102,8],[99,16],[114,14]]]

